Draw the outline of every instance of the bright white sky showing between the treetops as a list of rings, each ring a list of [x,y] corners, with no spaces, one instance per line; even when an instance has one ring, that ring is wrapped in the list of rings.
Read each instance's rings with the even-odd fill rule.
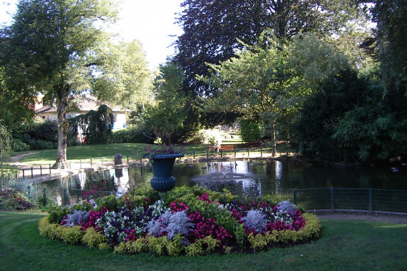
[[[182,11],[183,0],[121,0],[119,4],[120,20],[113,31],[120,34],[124,41],[138,40],[143,46],[148,67],[151,71],[164,63],[174,54],[171,44],[175,37],[182,34],[180,26],[175,24],[177,14]],[[16,11],[17,0],[0,2],[0,24],[11,21]]]

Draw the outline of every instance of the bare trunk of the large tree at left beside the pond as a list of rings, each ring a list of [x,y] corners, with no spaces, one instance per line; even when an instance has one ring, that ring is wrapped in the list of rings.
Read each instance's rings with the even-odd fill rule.
[[[68,102],[66,97],[60,98],[58,101],[58,154],[56,163],[52,168],[69,168],[68,161],[66,160],[66,141],[68,138],[68,121],[66,119],[66,107]]]

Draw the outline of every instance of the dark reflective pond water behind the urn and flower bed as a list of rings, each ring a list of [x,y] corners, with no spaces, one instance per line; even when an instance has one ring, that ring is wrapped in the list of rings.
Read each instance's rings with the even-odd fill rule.
[[[176,186],[204,186],[232,193],[264,195],[294,188],[375,188],[407,190],[407,165],[332,166],[293,160],[226,161],[175,164]],[[125,193],[150,185],[151,165],[81,173],[41,183],[58,204],[72,204],[88,195]],[[86,190],[88,192],[84,192]]]

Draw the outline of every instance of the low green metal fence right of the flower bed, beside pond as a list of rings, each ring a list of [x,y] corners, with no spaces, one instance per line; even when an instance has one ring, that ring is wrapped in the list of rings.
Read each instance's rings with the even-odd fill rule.
[[[266,192],[275,201],[290,200],[305,210],[407,213],[407,190],[314,188]]]

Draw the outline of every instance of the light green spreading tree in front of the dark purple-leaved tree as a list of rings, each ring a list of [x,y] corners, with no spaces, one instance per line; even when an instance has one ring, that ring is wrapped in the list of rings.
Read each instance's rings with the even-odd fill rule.
[[[207,98],[208,111],[235,111],[246,120],[262,119],[267,136],[277,132],[287,140],[304,100],[319,83],[346,65],[346,59],[315,35],[282,42],[264,32],[256,46],[248,46],[219,65],[210,65],[212,76],[200,79],[220,89]]]

